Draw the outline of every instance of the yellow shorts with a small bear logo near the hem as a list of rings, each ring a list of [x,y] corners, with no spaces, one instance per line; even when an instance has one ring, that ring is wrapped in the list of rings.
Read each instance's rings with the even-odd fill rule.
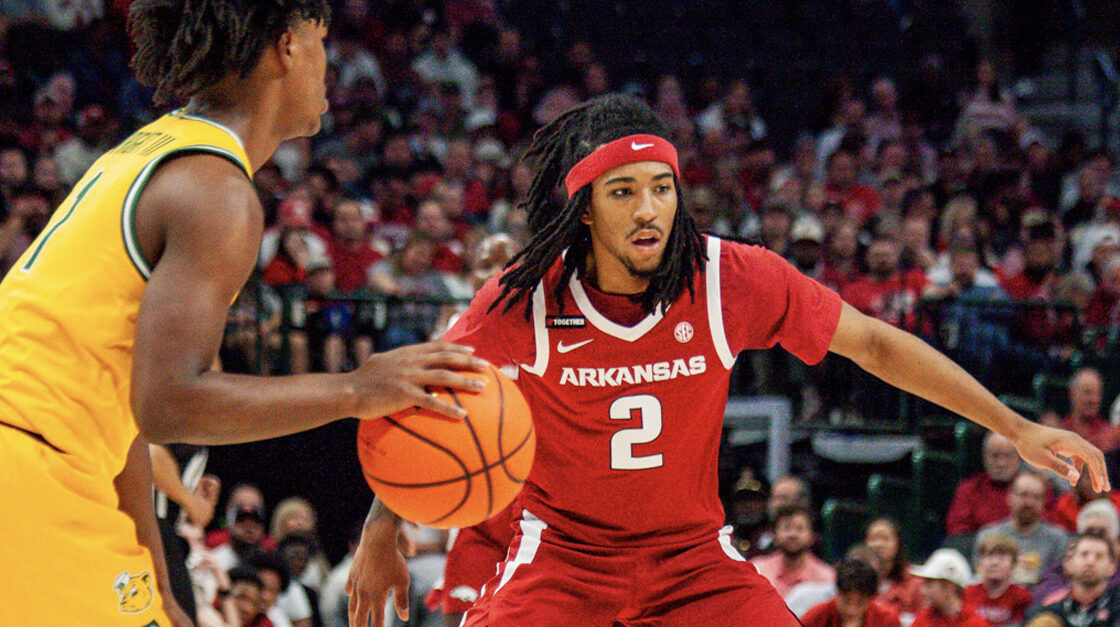
[[[0,625],[170,625],[102,470],[0,423]]]

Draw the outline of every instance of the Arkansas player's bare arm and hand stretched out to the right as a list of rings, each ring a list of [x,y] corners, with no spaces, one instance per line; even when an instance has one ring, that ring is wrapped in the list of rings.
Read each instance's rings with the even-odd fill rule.
[[[1104,456],[1096,447],[1076,433],[1044,427],[1015,413],[972,375],[917,337],[844,303],[829,349],[896,387],[1007,437],[1029,464],[1054,470],[1071,484],[1077,483],[1079,468],[1084,466],[1092,476],[1093,489],[1108,489]]]

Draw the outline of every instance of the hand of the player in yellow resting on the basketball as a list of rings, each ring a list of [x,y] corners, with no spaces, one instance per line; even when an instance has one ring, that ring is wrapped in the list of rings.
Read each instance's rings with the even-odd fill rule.
[[[428,341],[375,353],[349,373],[357,392],[357,418],[381,418],[411,408],[431,410],[451,418],[466,411],[439,400],[428,387],[452,387],[467,392],[483,389],[480,381],[455,371],[483,372],[487,364],[472,356],[474,348],[446,341]]]

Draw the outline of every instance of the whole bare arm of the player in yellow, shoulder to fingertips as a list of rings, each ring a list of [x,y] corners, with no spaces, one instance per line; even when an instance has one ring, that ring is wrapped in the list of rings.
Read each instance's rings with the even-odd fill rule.
[[[244,442],[412,405],[463,415],[424,390],[477,390],[477,382],[454,371],[482,371],[485,364],[469,348],[450,344],[377,354],[338,375],[209,372],[230,303],[256,262],[262,225],[252,185],[218,157],[190,156],[166,165],[141,196],[137,233],[155,265],[137,319],[131,395],[146,439]]]

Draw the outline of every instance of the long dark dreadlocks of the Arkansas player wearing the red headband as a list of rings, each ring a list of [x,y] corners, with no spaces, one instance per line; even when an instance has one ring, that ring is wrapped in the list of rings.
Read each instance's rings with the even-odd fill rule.
[[[535,167],[533,183],[525,200],[520,205],[529,217],[532,237],[507,264],[502,275],[502,291],[489,306],[494,310],[505,300],[503,312],[517,302],[525,302],[525,318],[532,315],[530,296],[549,268],[566,249],[563,273],[556,286],[559,302],[572,274],[586,271],[591,236],[580,217],[591,203],[591,185],[585,185],[557,210],[551,202],[557,187],[580,159],[596,148],[632,134],[669,137],[665,123],[642,101],[628,96],[600,96],[575,106],[541,128],[524,159]],[[696,296],[693,278],[702,271],[707,259],[700,232],[689,215],[680,181],[674,177],[676,214],[665,243],[661,264],[650,277],[650,284],[637,299],[642,308],[652,314],[657,307],[665,310],[684,289]],[[562,307],[562,305],[561,305]]]

